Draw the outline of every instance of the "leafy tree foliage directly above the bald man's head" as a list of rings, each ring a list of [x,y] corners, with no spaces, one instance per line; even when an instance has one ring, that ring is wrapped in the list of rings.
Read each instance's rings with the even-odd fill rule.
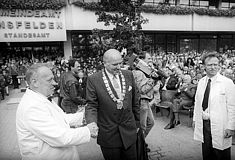
[[[141,43],[145,40],[141,26],[148,22],[141,15],[140,1],[137,3],[128,0],[102,1],[100,5],[101,9],[95,13],[98,16],[97,22],[113,26],[113,29],[93,29],[93,47],[100,53],[109,48],[120,51],[126,48],[128,53],[139,53],[142,50]]]

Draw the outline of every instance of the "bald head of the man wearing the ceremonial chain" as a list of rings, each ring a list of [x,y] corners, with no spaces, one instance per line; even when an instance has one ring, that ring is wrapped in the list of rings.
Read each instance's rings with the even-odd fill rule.
[[[111,74],[118,74],[122,64],[121,53],[116,49],[109,49],[103,56],[104,67]]]

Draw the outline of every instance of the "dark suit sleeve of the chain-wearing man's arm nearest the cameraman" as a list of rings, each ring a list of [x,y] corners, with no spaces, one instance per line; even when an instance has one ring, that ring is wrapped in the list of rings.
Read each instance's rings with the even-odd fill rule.
[[[132,112],[135,116],[136,126],[140,128],[140,95],[137,92],[137,86],[135,84],[134,76],[131,73],[131,81],[132,81]]]

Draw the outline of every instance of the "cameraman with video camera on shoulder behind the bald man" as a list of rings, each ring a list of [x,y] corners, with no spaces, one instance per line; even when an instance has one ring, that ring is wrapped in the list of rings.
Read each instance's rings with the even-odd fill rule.
[[[152,56],[148,52],[144,52],[139,58],[138,64],[134,64],[132,72],[140,94],[140,126],[144,131],[144,136],[147,137],[154,126],[154,116],[149,103],[154,98],[153,88],[156,85],[156,79],[153,77],[157,77],[157,74],[156,72],[146,74],[148,70],[152,70],[150,67]],[[150,149],[147,148],[147,151]]]

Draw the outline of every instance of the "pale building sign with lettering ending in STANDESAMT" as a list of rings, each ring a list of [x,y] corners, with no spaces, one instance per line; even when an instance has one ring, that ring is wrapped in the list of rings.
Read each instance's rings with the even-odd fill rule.
[[[63,9],[0,9],[0,42],[37,41],[66,41]]]

